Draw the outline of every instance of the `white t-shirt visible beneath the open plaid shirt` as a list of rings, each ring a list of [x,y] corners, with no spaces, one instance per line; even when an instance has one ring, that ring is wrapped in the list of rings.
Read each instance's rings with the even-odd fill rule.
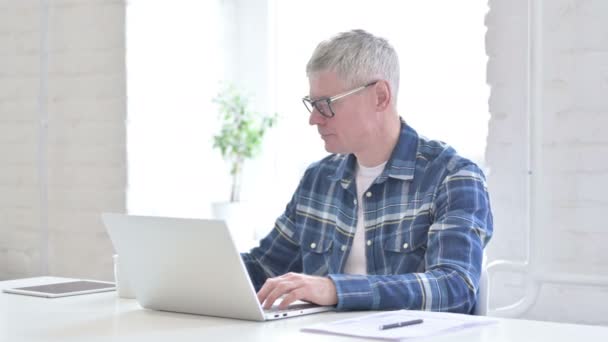
[[[382,173],[385,165],[386,162],[374,167],[365,167],[357,163],[357,170],[355,171],[358,204],[357,228],[355,230],[351,251],[346,259],[344,273],[367,274],[367,258],[365,257],[365,217],[363,216],[365,208],[363,207],[363,196],[374,180]]]

